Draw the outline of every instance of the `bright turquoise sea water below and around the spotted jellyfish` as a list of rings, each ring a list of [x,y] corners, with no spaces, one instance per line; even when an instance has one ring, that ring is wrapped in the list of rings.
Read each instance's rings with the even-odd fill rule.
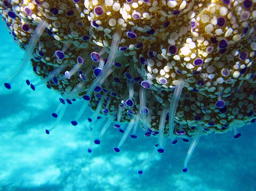
[[[23,51],[0,23],[0,81],[18,65]],[[256,127],[203,136],[184,173],[183,160],[189,143],[167,142],[166,152],[157,155],[138,175],[140,164],[153,150],[154,137],[138,131],[137,140],[128,140],[114,153],[121,133],[110,128],[102,144],[88,153],[90,133],[86,121],[74,127],[70,121],[79,109],[76,101],[50,135],[44,133],[54,119],[59,94],[46,86],[34,92],[26,79],[36,76],[28,66],[12,90],[0,86],[0,190],[174,190],[174,191],[255,191]],[[85,118],[91,115],[86,111]],[[97,124],[101,124],[99,119]]]

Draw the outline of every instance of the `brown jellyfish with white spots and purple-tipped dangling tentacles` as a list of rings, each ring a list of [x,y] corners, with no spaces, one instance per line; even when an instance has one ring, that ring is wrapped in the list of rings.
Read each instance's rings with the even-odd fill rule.
[[[40,80],[27,85],[60,93],[49,135],[80,98],[70,125],[79,125],[85,109],[93,111],[86,116],[88,152],[109,127],[123,132],[115,152],[143,128],[158,144],[139,174],[167,141],[191,138],[186,172],[201,136],[234,131],[238,138],[238,128],[255,121],[254,6],[251,0],[1,0],[1,17],[25,50],[3,84],[11,89],[31,62]],[[101,116],[108,121],[97,129]]]

